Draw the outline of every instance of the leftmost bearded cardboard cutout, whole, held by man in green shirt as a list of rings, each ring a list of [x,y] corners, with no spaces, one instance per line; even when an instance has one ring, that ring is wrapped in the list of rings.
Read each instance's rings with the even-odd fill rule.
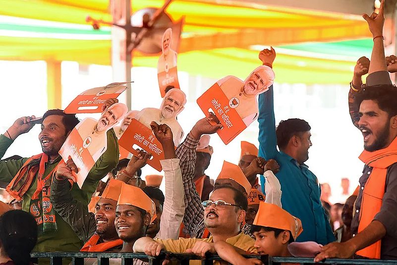
[[[92,118],[82,120],[66,138],[59,154],[65,163],[71,158],[77,166],[78,173],[72,171],[72,174],[80,189],[88,172],[107,149],[106,132],[123,119],[127,111],[126,105],[115,103],[102,113],[98,121]]]

